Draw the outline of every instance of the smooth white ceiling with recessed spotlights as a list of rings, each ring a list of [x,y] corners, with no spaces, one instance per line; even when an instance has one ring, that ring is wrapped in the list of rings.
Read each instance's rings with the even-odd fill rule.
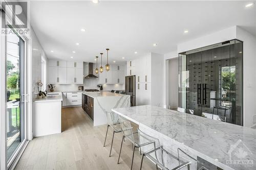
[[[122,63],[150,52],[175,51],[180,42],[234,25],[256,35],[255,4],[246,8],[248,3],[31,1],[30,16],[48,58],[95,62],[95,56],[110,48],[110,63]]]

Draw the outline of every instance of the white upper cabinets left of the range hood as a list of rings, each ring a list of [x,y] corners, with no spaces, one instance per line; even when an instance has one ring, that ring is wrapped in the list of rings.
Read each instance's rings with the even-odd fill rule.
[[[83,84],[83,62],[49,60],[49,83]]]

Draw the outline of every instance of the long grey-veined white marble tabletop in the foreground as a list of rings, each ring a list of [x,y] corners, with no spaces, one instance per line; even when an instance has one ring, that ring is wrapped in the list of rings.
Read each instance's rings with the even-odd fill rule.
[[[246,152],[242,160],[252,160],[248,167],[233,169],[255,169],[256,164],[256,130],[238,125],[224,123],[196,115],[181,113],[156,106],[135,106],[115,108],[113,112],[130,119],[138,125],[149,127],[172,138],[210,160],[218,161],[228,167],[230,152],[242,148]],[[231,160],[241,160],[232,157]]]

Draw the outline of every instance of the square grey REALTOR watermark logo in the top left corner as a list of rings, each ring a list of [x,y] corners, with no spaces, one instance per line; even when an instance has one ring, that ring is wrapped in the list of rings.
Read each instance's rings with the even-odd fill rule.
[[[2,2],[2,34],[27,33],[27,2]]]

